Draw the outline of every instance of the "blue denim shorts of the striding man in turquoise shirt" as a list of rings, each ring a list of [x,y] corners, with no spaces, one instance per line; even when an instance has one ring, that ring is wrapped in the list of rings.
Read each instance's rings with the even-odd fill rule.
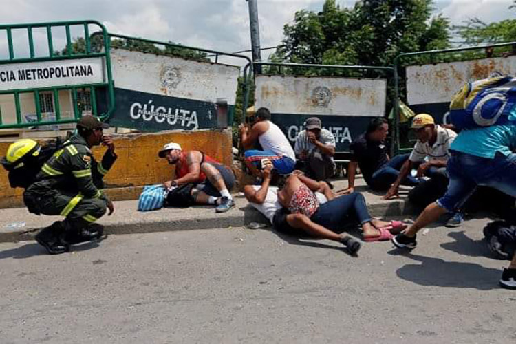
[[[475,191],[477,185],[490,186],[516,197],[516,154],[496,153],[495,158],[451,151],[447,171],[448,189],[437,203],[450,213],[455,212]]]

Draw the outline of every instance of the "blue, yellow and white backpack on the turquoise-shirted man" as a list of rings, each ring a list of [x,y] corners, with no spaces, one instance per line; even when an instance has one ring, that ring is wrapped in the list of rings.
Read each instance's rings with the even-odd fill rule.
[[[516,121],[516,78],[497,76],[466,83],[450,103],[449,122],[457,129],[506,125]]]

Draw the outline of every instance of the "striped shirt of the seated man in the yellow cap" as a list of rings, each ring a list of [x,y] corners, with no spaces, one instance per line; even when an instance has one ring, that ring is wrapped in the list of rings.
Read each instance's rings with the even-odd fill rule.
[[[447,161],[449,158],[450,144],[455,140],[457,133],[451,129],[445,129],[440,125],[437,126],[437,139],[436,142],[430,146],[428,142],[416,142],[412,153],[410,154],[409,160],[411,162],[421,162],[424,158],[430,160],[444,160]]]

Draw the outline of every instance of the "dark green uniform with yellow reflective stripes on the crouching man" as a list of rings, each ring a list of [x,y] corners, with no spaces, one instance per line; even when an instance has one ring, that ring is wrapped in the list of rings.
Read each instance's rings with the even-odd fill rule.
[[[106,213],[103,177],[116,155],[106,151],[96,162],[85,139],[72,136],[45,163],[23,198],[31,213],[62,215],[67,230],[80,230]]]

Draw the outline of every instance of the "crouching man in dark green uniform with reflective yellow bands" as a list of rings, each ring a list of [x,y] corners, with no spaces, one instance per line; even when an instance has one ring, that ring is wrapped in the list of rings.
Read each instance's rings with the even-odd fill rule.
[[[94,222],[107,208],[109,215],[114,211],[102,191],[103,177],[117,158],[113,141],[103,135],[105,127],[94,116],[80,118],[76,135],[43,164],[36,181],[23,193],[31,213],[65,217],[36,235],[36,241],[51,255],[67,252],[70,244],[98,239],[103,227]],[[98,163],[90,149],[101,143],[108,149]]]

